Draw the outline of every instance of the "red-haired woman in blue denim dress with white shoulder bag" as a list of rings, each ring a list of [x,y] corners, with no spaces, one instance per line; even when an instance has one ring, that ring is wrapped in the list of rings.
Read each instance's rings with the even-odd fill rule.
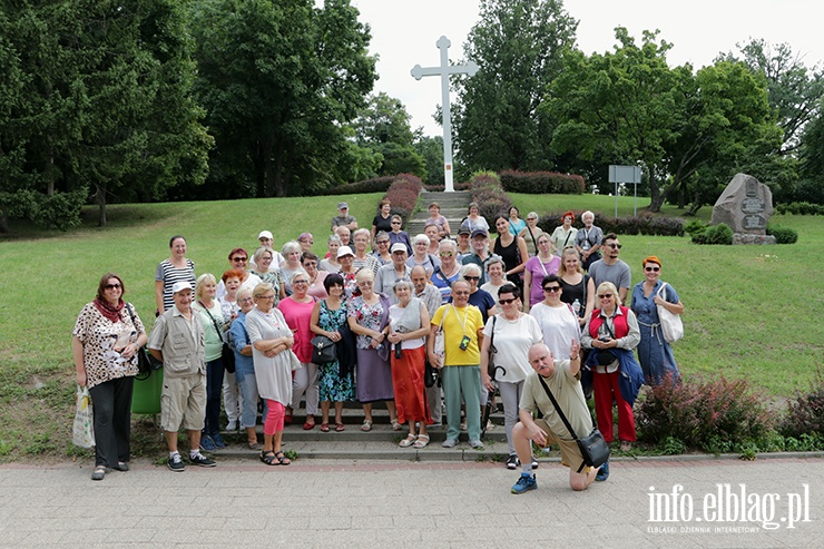
[[[675,363],[673,347],[664,340],[658,317],[658,307],[661,305],[670,313],[684,313],[684,304],[675,288],[661,282],[661,262],[650,255],[644,259],[644,282],[632,288],[631,310],[638,317],[641,332],[641,342],[638,344],[638,362],[641,363],[644,378],[648,385],[657,385],[668,375],[675,381],[680,379],[678,365]],[[661,292],[661,286],[666,288]],[[664,298],[666,296],[666,300]]]

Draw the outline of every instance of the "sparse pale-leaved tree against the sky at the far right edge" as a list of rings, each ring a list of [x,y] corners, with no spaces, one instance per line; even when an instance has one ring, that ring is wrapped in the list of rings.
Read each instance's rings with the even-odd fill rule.
[[[824,70],[820,63],[807,67],[804,58],[788,43],[773,47],[764,39],[751,39],[737,45],[739,56],[729,52],[719,60],[742,60],[767,82],[769,105],[777,111],[784,135],[781,154],[798,148],[804,126],[814,119],[824,97]]]

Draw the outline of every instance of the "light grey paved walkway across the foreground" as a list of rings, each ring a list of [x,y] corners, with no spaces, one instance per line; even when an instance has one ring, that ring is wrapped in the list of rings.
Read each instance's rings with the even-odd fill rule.
[[[90,463],[0,465],[0,547],[810,548],[824,539],[821,458],[615,462],[609,481],[580,493],[566,469],[545,463],[539,489],[522,496],[509,493],[517,473],[500,463],[224,460],[184,473],[136,463],[101,482],[89,474]],[[742,514],[742,490],[746,520],[728,520]],[[666,518],[665,498],[690,520],[651,522]]]

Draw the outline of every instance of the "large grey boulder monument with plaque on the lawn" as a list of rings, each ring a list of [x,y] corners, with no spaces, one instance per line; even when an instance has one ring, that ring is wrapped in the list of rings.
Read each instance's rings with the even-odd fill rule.
[[[713,206],[710,223],[733,229],[733,244],[775,244],[767,235],[773,215],[773,193],[753,176],[736,174]]]

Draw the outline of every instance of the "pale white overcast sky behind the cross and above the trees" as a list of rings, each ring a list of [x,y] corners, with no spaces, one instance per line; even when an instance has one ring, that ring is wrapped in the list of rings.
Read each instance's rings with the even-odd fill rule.
[[[370,24],[370,52],[379,56],[374,92],[385,91],[403,102],[412,128],[441,135],[432,115],[441,102],[439,77],[415,80],[415,65],[440,63],[435,42],[445,36],[452,62],[463,59],[463,45],[479,21],[479,0],[352,0],[360,20]],[[660,30],[659,39],[674,47],[670,66],[691,62],[697,70],[712,65],[719,52],[737,51],[736,43],[763,38],[787,42],[807,67],[824,61],[820,0],[565,0],[566,10],[579,21],[578,48],[605,52],[616,43],[615,27],[629,30],[639,43],[644,30]],[[454,100],[454,96],[453,96]]]

